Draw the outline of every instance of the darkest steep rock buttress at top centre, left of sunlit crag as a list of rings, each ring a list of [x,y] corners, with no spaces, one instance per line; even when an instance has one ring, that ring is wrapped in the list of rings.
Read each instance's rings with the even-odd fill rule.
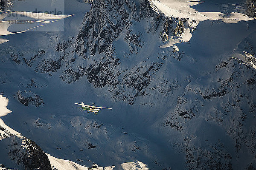
[[[92,56],[96,51],[101,54],[107,48],[111,50],[111,43],[123,28],[131,25],[130,21],[133,17],[139,19],[136,10],[133,1],[112,0],[111,3],[105,3],[104,0],[93,1],[92,9],[85,16],[81,31],[76,38],[76,54]]]

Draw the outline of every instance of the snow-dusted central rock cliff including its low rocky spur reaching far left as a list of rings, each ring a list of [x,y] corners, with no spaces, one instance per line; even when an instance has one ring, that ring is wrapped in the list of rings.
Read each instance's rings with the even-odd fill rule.
[[[177,79],[170,82],[157,73],[168,56],[180,61],[186,54],[177,46],[163,51],[153,48],[183,35],[186,29],[194,31],[197,21],[166,15],[156,3],[159,1],[95,1],[76,37],[52,42],[54,53],[46,48],[31,54],[12,49],[8,55],[17,65],[27,65],[35,72],[52,75],[61,70],[59,77],[69,84],[85,76],[94,88],[108,89],[113,101],[133,105],[138,96],[150,94],[152,89],[168,96],[180,85]],[[161,83],[155,87],[153,81]]]

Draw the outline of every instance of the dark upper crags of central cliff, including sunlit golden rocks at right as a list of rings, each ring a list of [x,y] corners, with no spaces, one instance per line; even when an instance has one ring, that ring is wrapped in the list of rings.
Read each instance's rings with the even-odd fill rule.
[[[96,51],[101,54],[108,48],[113,50],[114,47],[111,47],[111,44],[121,32],[125,33],[125,41],[129,45],[142,47],[140,33],[132,31],[136,22],[142,20],[146,21],[143,29],[148,34],[154,34],[161,25],[163,31],[160,33],[160,38],[163,41],[168,40],[169,35],[183,34],[184,23],[188,22],[186,18],[167,17],[160,14],[151,0],[138,2],[112,0],[111,3],[104,0],[93,1],[92,9],[85,16],[81,31],[76,38],[76,54],[88,57],[94,55]],[[196,23],[195,20],[192,21]]]

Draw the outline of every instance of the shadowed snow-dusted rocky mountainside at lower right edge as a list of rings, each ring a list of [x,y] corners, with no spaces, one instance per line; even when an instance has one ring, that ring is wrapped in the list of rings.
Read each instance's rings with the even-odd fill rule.
[[[246,59],[243,61],[227,58],[216,65],[215,73],[189,83],[185,93],[178,97],[177,106],[163,122],[164,126],[182,133],[190,128],[188,124],[193,119],[199,120],[199,117],[204,117],[203,121],[207,122],[207,125],[208,123],[218,125],[224,129],[223,135],[232,139],[228,143],[219,139],[214,145],[212,142],[207,143],[207,139],[204,139],[206,141],[198,139],[196,133],[189,139],[184,139],[186,143],[184,152],[190,169],[203,167],[232,169],[234,166],[232,161],[238,161],[239,156],[231,156],[233,151],[228,149],[229,144],[233,144],[236,155],[239,155],[241,150],[247,150],[251,154],[247,162],[255,161],[256,129],[247,122],[247,119],[251,121],[256,119],[254,108],[256,103],[253,98],[256,90],[254,79],[256,79],[256,70],[253,64]],[[205,82],[212,83],[206,85]],[[227,119],[231,120],[231,123],[227,124]],[[206,145],[195,147],[192,141],[198,140]]]

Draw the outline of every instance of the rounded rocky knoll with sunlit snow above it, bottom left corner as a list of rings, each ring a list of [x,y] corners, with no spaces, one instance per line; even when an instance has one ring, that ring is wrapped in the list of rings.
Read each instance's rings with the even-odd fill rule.
[[[8,98],[0,95],[0,116],[11,112],[6,108],[7,105]],[[0,119],[0,146],[1,167],[51,170],[44,151],[35,142],[6,126],[2,119]]]

